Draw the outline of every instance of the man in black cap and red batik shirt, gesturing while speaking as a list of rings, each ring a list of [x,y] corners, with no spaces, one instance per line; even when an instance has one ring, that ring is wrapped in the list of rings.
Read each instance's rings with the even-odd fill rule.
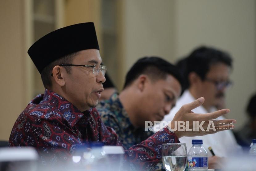
[[[77,146],[92,141],[104,145],[122,145],[116,133],[101,121],[97,110],[105,82],[106,67],[101,56],[93,23],[80,23],[55,30],[35,42],[28,54],[37,67],[44,94],[36,96],[14,123],[9,146],[32,146],[37,149],[43,165],[68,163]],[[200,106],[199,98],[180,109],[175,120],[208,122],[229,112],[223,109],[214,113],[195,115],[192,109]],[[233,119],[221,123],[228,124]],[[217,125],[220,121],[215,121]],[[204,124],[206,129],[208,124]],[[170,125],[171,127],[171,125]],[[217,131],[224,129],[218,127]],[[180,137],[215,132],[178,132],[166,127],[125,151],[125,163],[135,170],[153,169],[161,160],[163,143],[179,142]],[[157,150],[158,149],[158,150]],[[129,167],[124,168],[129,169]]]

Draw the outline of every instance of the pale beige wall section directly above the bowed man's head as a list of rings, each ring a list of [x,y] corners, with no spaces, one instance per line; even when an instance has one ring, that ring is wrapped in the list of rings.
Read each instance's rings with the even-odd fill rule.
[[[124,70],[143,56],[173,58],[174,1],[129,0],[123,3]]]

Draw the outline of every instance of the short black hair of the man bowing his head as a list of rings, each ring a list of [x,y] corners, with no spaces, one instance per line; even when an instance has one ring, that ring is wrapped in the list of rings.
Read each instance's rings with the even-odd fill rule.
[[[129,86],[141,74],[148,75],[152,80],[166,79],[167,74],[175,77],[180,85],[183,85],[183,78],[180,70],[160,57],[140,58],[126,74],[124,89]]]

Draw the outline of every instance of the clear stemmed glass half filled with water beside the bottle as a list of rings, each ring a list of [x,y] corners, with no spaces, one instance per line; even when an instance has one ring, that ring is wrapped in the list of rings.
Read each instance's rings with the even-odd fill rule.
[[[185,143],[168,143],[162,145],[162,161],[167,171],[184,171],[188,161]]]

